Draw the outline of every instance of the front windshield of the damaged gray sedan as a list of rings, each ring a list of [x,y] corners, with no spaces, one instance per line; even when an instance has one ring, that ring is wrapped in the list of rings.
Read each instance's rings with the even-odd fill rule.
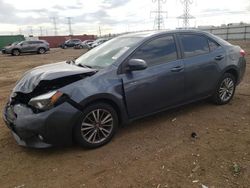
[[[140,37],[114,38],[83,54],[75,63],[93,68],[107,67],[140,40],[142,40]]]

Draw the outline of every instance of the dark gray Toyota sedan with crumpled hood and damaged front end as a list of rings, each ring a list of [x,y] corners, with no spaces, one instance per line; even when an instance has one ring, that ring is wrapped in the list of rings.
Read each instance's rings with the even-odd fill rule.
[[[200,31],[120,36],[76,60],[26,72],[3,117],[20,145],[96,148],[132,120],[205,98],[228,103],[245,73],[244,55]]]

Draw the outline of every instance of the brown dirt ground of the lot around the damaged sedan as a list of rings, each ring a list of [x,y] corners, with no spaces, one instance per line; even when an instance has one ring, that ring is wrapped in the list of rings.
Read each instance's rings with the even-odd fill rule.
[[[234,42],[237,43],[237,42]],[[239,43],[239,42],[238,42]],[[250,54],[250,41],[241,42]],[[28,69],[79,56],[0,55],[0,108]],[[247,55],[250,62],[250,55]],[[197,139],[191,138],[196,132]],[[250,187],[250,66],[234,100],[197,102],[132,123],[99,149],[28,149],[0,120],[0,187]]]

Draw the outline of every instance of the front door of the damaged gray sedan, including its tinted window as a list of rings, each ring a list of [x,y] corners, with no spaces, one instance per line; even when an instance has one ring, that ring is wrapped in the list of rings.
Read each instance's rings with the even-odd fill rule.
[[[143,59],[148,68],[122,74],[130,118],[176,105],[183,99],[184,65],[173,35],[152,39],[130,59]]]

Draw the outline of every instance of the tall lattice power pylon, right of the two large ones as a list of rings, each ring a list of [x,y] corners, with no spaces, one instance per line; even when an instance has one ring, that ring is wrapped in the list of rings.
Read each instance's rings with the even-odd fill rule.
[[[183,20],[183,28],[187,29],[189,27],[189,20],[195,18],[190,14],[190,5],[193,3],[193,0],[180,1],[183,4],[183,14],[178,18]]]

